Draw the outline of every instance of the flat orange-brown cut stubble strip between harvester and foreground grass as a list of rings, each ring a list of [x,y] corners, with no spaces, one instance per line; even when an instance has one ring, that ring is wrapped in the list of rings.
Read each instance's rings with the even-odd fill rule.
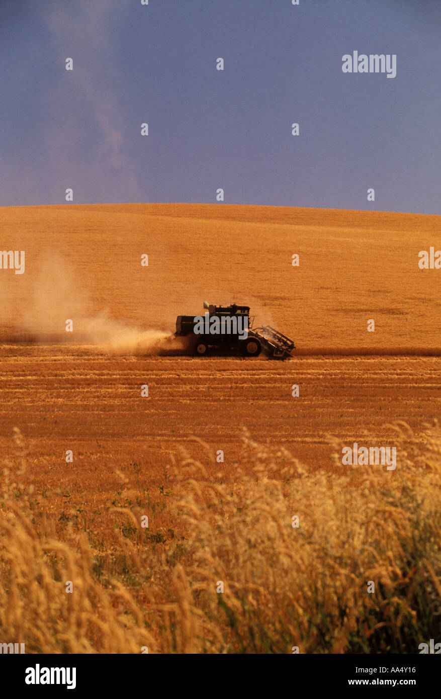
[[[386,424],[433,424],[441,414],[441,360],[431,356],[271,362],[115,357],[67,347],[3,347],[0,356],[3,450],[19,426],[42,487],[61,478],[79,495],[93,476],[100,487],[90,494],[100,499],[112,494],[108,459],[117,468],[136,461],[155,480],[179,446],[191,449],[192,437],[208,442],[213,454],[222,449],[228,476],[243,428],[313,468],[331,468],[327,434],[348,443],[365,434],[387,440],[393,430]],[[66,449],[73,464],[65,463]]]

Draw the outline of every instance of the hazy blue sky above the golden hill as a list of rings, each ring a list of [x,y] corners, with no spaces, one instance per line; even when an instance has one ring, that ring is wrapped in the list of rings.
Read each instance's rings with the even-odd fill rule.
[[[439,0],[1,0],[0,206],[222,187],[440,214],[440,29]],[[396,54],[396,77],[342,73],[354,50]]]

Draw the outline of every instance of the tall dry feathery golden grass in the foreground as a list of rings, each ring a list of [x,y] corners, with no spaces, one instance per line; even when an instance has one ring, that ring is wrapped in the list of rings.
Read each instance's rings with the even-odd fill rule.
[[[312,468],[244,432],[226,480],[198,441],[200,459],[182,451],[168,482],[180,535],[166,545],[137,510],[112,513],[126,520],[121,570],[115,547],[113,567],[101,552],[97,570],[83,533],[57,535],[16,431],[1,477],[0,642],[36,653],[415,653],[441,640],[441,432],[393,430],[389,472],[342,466],[332,437],[333,468]]]

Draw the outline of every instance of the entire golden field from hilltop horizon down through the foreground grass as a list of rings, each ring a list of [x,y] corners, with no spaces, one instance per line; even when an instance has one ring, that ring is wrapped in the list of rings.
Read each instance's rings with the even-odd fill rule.
[[[414,653],[436,637],[441,271],[418,254],[441,247],[440,217],[0,217],[2,249],[26,254],[22,275],[0,270],[2,638],[29,653]],[[204,300],[250,305],[294,356],[188,356],[169,336]],[[353,442],[394,445],[396,470],[343,466]]]

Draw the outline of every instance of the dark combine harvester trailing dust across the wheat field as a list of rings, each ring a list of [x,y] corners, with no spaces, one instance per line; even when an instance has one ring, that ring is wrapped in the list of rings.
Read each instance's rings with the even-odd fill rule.
[[[263,350],[270,359],[288,359],[295,349],[293,340],[270,325],[253,328],[250,324],[250,306],[211,305],[203,316],[178,315],[175,337],[187,337],[193,354],[203,356],[210,347],[227,352],[239,351],[245,356],[258,356]]]

